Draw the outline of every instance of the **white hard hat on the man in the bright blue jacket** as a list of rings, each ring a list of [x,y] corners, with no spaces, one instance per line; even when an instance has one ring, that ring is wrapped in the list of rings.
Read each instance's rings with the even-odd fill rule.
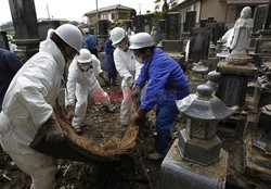
[[[138,33],[130,38],[130,49],[142,49],[152,46],[153,39],[147,33]]]

